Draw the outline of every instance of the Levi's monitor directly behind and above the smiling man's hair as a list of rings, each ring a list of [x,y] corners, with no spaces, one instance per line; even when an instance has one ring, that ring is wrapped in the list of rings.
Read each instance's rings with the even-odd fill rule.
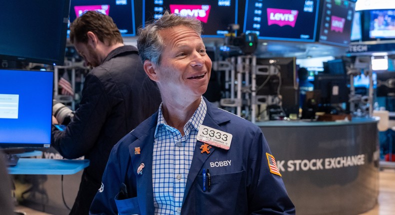
[[[144,0],[142,23],[161,17],[164,11],[194,16],[203,26],[202,37],[224,37],[230,24],[237,23],[238,0]]]

